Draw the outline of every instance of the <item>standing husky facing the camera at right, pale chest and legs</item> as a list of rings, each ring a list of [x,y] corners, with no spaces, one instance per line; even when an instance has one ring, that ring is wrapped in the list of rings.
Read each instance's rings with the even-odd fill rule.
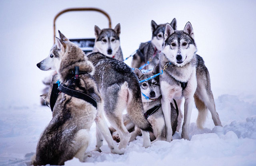
[[[188,22],[184,30],[174,30],[166,24],[164,45],[159,59],[160,69],[168,66],[160,77],[162,93],[162,110],[166,123],[166,139],[172,140],[170,120],[170,101],[185,98],[184,123],[182,138],[189,139],[188,130],[193,107],[193,98],[198,109],[197,124],[202,127],[207,115],[207,108],[212,114],[215,125],[222,126],[215,109],[214,99],[210,88],[210,76],[202,57],[196,54],[193,28]]]

